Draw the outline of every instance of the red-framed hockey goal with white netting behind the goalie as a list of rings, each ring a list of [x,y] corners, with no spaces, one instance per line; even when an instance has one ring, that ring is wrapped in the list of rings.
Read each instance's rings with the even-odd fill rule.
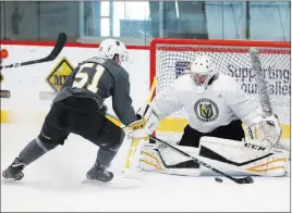
[[[219,73],[230,75],[251,96],[257,96],[248,50],[258,49],[273,112],[283,129],[282,140],[290,139],[291,54],[289,42],[247,40],[154,39],[150,43],[150,84],[157,77],[156,96],[178,78],[198,54],[209,55]],[[184,109],[162,120],[157,137],[178,142],[187,124]]]

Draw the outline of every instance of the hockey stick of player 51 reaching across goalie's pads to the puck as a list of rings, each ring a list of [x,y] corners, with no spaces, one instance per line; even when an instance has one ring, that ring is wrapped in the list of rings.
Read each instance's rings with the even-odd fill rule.
[[[150,137],[153,140],[155,140],[155,141],[157,141],[157,142],[160,142],[160,143],[162,143],[162,145],[166,145],[167,147],[171,148],[172,150],[174,150],[174,151],[177,151],[177,152],[179,152],[179,153],[181,153],[181,154],[183,154],[183,155],[190,158],[191,160],[193,160],[194,162],[198,163],[199,165],[204,165],[205,167],[211,170],[212,172],[218,173],[218,174],[220,174],[220,175],[222,175],[222,176],[224,176],[224,177],[231,179],[232,181],[235,181],[235,183],[238,183],[238,184],[252,184],[252,183],[254,183],[254,179],[253,179],[251,176],[246,176],[246,177],[242,177],[242,178],[235,178],[235,177],[232,177],[232,176],[230,176],[230,175],[223,173],[222,171],[219,171],[219,170],[217,170],[216,167],[212,167],[211,165],[209,165],[209,164],[207,164],[207,163],[205,163],[205,162],[203,162],[203,161],[200,161],[200,160],[198,160],[198,159],[196,159],[196,158],[194,158],[194,156],[187,154],[186,152],[184,152],[184,151],[182,151],[182,150],[180,150],[180,149],[173,147],[172,145],[170,145],[170,143],[168,143],[168,142],[166,142],[166,141],[159,139],[159,138],[156,138],[156,137],[154,137],[154,136],[149,136],[149,137]]]

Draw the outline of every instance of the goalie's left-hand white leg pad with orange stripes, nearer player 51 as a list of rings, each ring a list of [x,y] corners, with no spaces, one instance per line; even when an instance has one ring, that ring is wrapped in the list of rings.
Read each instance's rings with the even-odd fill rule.
[[[144,143],[141,148],[138,167],[147,172],[171,175],[199,176],[199,165],[170,150],[165,145]]]

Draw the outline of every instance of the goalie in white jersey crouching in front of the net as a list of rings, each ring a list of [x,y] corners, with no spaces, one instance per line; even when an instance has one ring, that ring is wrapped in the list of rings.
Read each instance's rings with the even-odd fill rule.
[[[259,102],[245,93],[235,79],[217,73],[211,59],[207,55],[197,55],[190,64],[188,72],[185,71],[170,88],[159,93],[145,108],[146,110],[143,113],[146,120],[145,127],[134,130],[130,135],[133,138],[144,138],[153,134],[160,120],[182,108],[188,114],[188,124],[184,128],[181,140],[178,141],[178,146],[184,146],[183,149],[187,147],[188,150],[200,148],[199,153],[212,160],[220,159],[228,162],[228,160],[222,160],[230,158],[230,155],[224,155],[228,152],[233,152],[232,158],[234,159],[235,152],[232,149],[234,146],[243,147],[242,140],[245,137],[242,123],[247,126],[246,129],[251,131],[252,139],[256,138],[255,140],[248,140],[252,141],[252,145],[246,146],[245,143],[242,149],[245,150],[247,155],[250,151],[246,151],[245,148],[251,150],[251,147],[257,147],[267,151],[267,146],[275,146],[281,136],[281,127],[277,116],[272,115],[264,118]],[[209,137],[212,137],[212,139]],[[206,145],[199,146],[202,141],[205,141],[206,145],[216,142],[207,149]],[[254,145],[255,142],[256,145]],[[220,143],[221,147],[215,148],[219,146],[216,143]],[[226,147],[232,148],[223,154],[219,154],[218,150],[226,150]],[[158,172],[172,173],[172,168],[199,167],[194,162],[187,161],[177,161],[175,165],[172,163],[168,166],[166,159],[170,159],[170,156],[163,154],[166,149],[161,151],[158,148],[159,146],[156,145],[145,145],[142,148],[142,168],[149,170],[150,167],[150,170]],[[263,153],[267,154],[266,152]],[[235,160],[242,161],[240,159],[241,154],[242,152],[239,152]],[[260,154],[251,154],[248,158],[256,159]],[[178,159],[177,154],[170,161],[175,162]],[[240,165],[240,163],[238,164]]]

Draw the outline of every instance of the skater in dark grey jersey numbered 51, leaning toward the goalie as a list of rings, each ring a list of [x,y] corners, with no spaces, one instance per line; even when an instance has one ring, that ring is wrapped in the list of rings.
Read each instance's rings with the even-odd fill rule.
[[[71,133],[99,146],[87,178],[101,181],[113,178],[113,174],[106,168],[117,154],[124,131],[106,118],[104,100],[112,97],[113,111],[124,125],[132,127],[142,121],[136,117],[132,106],[129,74],[121,66],[129,59],[124,43],[105,39],[97,53],[98,57],[80,63],[72,72],[53,100],[40,134],[2,173],[4,178],[22,179],[25,166],[63,145]]]

